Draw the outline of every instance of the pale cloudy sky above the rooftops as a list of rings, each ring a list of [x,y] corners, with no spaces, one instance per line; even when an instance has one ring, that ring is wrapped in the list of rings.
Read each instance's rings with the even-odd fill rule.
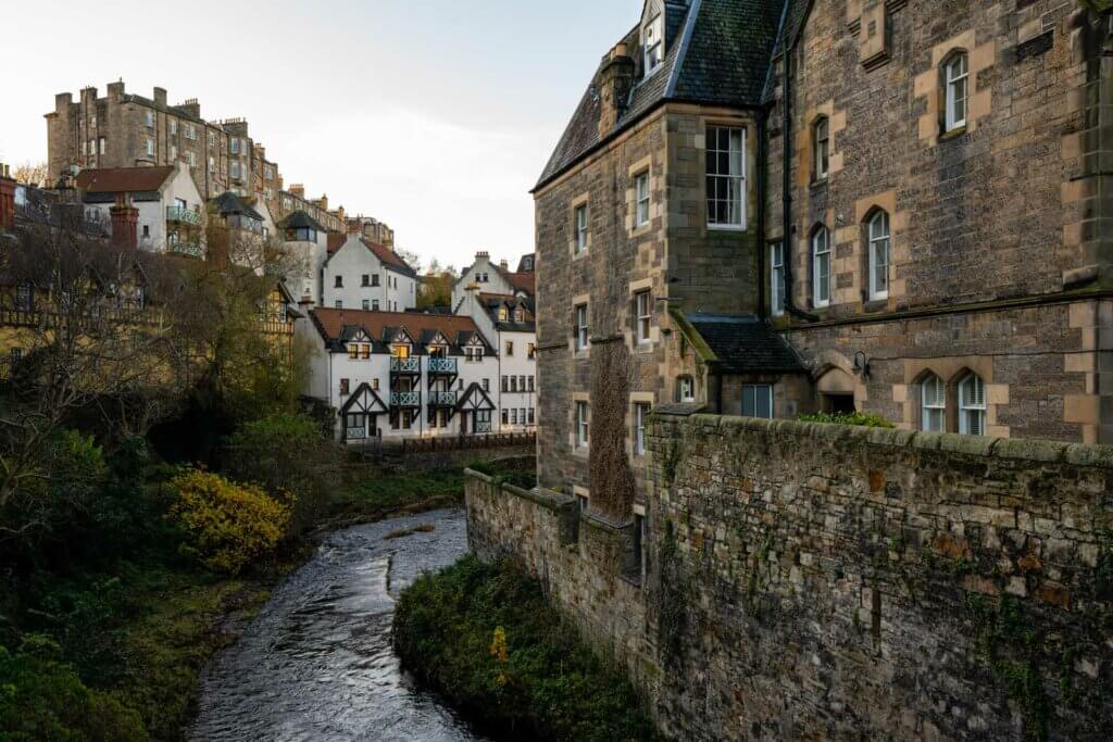
[[[244,117],[287,187],[373,216],[423,265],[533,251],[536,182],[642,0],[40,0],[0,3],[0,162],[45,161],[86,86]]]

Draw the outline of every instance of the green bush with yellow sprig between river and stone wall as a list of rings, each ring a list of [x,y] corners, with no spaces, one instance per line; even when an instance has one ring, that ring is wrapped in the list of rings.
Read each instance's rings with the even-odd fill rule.
[[[633,687],[511,564],[420,577],[394,616],[403,664],[465,714],[529,740],[654,740]]]

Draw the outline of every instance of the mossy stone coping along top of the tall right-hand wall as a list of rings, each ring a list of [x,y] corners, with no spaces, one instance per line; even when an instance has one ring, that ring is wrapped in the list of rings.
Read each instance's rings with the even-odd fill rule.
[[[1096,446],[1056,441],[1027,438],[991,438],[957,433],[924,433],[897,428],[864,427],[835,423],[806,423],[789,419],[762,419],[728,415],[673,415],[654,410],[652,417],[680,422],[693,428],[728,431],[751,431],[768,435],[797,436],[801,438],[826,438],[830,441],[855,441],[877,446],[895,448],[918,448],[942,451],[969,456],[1031,461],[1038,463],[1062,463],[1075,466],[1113,469],[1113,446]]]

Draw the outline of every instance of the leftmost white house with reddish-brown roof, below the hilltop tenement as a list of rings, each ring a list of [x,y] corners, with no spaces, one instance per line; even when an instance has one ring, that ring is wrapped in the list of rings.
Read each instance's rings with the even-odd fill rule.
[[[95,218],[106,224],[117,202],[134,206],[139,212],[136,225],[139,249],[205,255],[205,199],[184,162],[157,168],[81,170],[77,188],[86,210],[98,212]]]

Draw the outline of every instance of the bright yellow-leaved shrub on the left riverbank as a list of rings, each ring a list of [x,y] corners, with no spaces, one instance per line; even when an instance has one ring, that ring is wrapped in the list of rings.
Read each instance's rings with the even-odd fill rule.
[[[262,488],[189,469],[174,479],[178,501],[170,516],[186,534],[184,548],[210,570],[238,574],[282,540],[290,506]]]

